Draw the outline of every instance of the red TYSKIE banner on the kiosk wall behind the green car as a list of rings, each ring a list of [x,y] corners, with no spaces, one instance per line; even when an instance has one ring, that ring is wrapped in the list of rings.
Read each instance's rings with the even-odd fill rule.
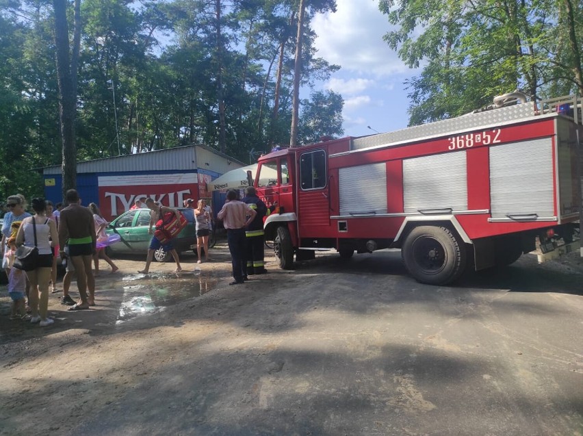
[[[113,220],[128,211],[136,198],[143,201],[151,197],[164,206],[182,207],[187,198],[198,200],[197,182],[196,172],[101,176],[98,177],[101,214]]]

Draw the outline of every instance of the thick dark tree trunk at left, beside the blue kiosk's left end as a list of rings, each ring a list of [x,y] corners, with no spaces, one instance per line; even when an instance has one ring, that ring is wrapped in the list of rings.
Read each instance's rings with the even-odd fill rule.
[[[55,9],[55,48],[59,84],[59,119],[63,146],[63,198],[69,189],[77,187],[77,149],[75,146],[75,91],[69,59],[67,1],[53,0]]]

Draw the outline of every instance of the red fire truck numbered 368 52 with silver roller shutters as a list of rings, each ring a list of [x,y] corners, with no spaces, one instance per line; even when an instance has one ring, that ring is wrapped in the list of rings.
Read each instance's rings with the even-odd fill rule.
[[[265,239],[283,269],[318,250],[400,248],[409,273],[435,285],[536,248],[544,260],[579,244],[582,142],[576,97],[513,92],[449,120],[273,151],[255,180],[274,208]]]

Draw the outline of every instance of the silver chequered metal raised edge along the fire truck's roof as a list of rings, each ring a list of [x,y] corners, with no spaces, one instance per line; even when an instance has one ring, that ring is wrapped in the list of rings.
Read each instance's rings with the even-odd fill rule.
[[[520,103],[513,106],[492,108],[482,112],[471,112],[456,118],[407,127],[406,129],[387,133],[362,136],[361,138],[352,139],[350,149],[368,149],[374,146],[387,146],[413,140],[450,136],[463,131],[487,129],[492,126],[515,123],[517,120],[527,120],[534,116],[557,113],[571,116],[575,123],[582,124],[581,100],[576,96],[566,96],[543,100],[539,105],[533,102]]]

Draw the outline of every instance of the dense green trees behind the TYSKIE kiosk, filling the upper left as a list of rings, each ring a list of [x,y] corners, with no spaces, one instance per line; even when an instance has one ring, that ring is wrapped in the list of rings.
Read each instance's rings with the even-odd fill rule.
[[[309,11],[331,6],[313,1]],[[293,0],[81,0],[77,159],[193,143],[218,149],[218,80],[226,153],[246,161],[251,149],[289,142],[296,11]],[[51,2],[1,3],[0,197],[42,194],[40,168],[62,162],[53,32]],[[338,67],[315,56],[306,32],[302,84],[311,86]],[[341,100],[312,99],[302,102],[305,138],[341,133],[339,112],[327,106]],[[331,115],[318,118],[318,108]]]

